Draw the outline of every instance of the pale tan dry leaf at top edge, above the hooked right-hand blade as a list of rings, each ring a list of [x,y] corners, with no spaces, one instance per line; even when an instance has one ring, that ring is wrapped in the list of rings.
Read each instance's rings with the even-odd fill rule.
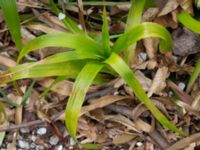
[[[168,2],[165,4],[164,8],[161,10],[158,16],[167,15],[171,13],[173,10],[175,10],[178,6],[179,3],[177,0],[168,0]]]

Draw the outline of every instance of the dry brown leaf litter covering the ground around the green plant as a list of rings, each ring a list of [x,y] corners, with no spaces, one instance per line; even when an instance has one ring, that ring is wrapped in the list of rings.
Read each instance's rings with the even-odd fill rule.
[[[82,1],[78,2],[78,5],[70,4],[72,7],[62,2],[59,5],[84,29],[97,30],[98,26],[101,26],[98,15],[102,12],[102,7],[87,6]],[[96,143],[100,145],[100,149],[105,150],[178,150],[200,147],[199,79],[189,93],[178,86],[180,82],[187,85],[191,73],[187,66],[193,68],[197,61],[195,55],[200,55],[199,35],[182,27],[176,20],[181,10],[194,14],[196,8],[193,10],[195,6],[192,6],[191,0],[156,0],[155,2],[156,7],[144,10],[143,20],[157,22],[169,28],[174,40],[173,55],[160,54],[158,39],[147,38],[137,44],[136,59],[132,67],[152,102],[189,136],[181,137],[162,127],[148,109],[130,92],[124,81],[113,80],[102,86],[93,85],[87,93],[88,98],[81,109],[78,125],[78,140],[82,144]],[[18,11],[24,15],[23,22],[25,23],[21,29],[24,41],[29,41],[44,33],[65,32],[63,23],[53,15],[47,0],[19,0],[17,4]],[[107,7],[107,13],[110,15],[109,30],[112,34],[119,34],[124,30],[124,18],[129,8],[130,3],[121,5],[120,2]],[[90,13],[87,14],[88,12]],[[32,16],[33,19],[30,20],[25,15]],[[83,17],[87,19],[84,21]],[[6,26],[1,18],[0,26],[0,42],[3,45],[0,66],[8,68],[16,65],[17,56],[11,37],[5,30]],[[32,52],[23,61],[37,61],[59,51],[63,50],[45,48],[39,52]],[[147,58],[141,60],[141,53],[146,53]],[[183,61],[184,59],[186,61]],[[184,63],[181,64],[181,62]],[[4,70],[1,69],[1,71]],[[58,82],[53,85],[50,92],[40,97],[40,94],[54,80],[55,78],[37,79],[27,102],[17,108],[6,103],[1,95],[1,103],[4,105],[8,121],[8,123],[3,123],[0,120],[0,130],[4,129],[4,132],[0,134],[0,139],[3,141],[1,149],[24,148],[22,143],[25,145],[28,143],[26,147],[30,149],[79,149],[78,144],[71,140],[63,122],[64,106],[71,94],[73,80]],[[30,79],[18,81],[23,92],[26,92],[31,83]],[[21,104],[22,97],[17,95],[12,84],[4,84],[1,87],[12,101]],[[105,89],[108,90],[105,92]],[[14,129],[30,127],[30,131],[23,133],[21,130],[13,130],[9,127]],[[41,128],[47,132],[38,136],[37,131]],[[53,136],[59,139],[55,145],[50,141]]]

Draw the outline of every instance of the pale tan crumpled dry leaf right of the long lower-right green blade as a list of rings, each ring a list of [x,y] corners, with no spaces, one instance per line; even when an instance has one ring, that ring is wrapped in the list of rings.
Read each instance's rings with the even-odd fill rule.
[[[159,68],[153,79],[151,88],[149,89],[148,96],[151,97],[153,94],[160,94],[161,91],[166,87],[166,79],[169,76],[168,68]]]

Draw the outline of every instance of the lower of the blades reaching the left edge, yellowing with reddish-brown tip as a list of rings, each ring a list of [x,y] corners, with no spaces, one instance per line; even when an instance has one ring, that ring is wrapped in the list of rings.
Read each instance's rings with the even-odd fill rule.
[[[0,76],[0,84],[25,79],[25,78],[41,78],[51,76],[66,76],[75,78],[80,72],[85,61],[69,61],[55,64],[34,65],[27,63],[10,68]]]

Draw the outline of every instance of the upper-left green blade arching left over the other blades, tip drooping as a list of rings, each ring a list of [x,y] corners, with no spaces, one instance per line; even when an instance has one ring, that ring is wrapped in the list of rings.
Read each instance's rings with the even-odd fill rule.
[[[86,35],[59,33],[46,34],[28,42],[19,54],[18,62],[29,52],[44,47],[67,47],[75,49],[80,56],[100,58],[101,46]]]

